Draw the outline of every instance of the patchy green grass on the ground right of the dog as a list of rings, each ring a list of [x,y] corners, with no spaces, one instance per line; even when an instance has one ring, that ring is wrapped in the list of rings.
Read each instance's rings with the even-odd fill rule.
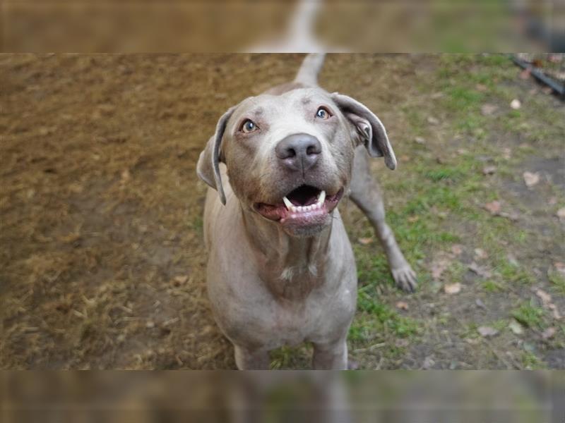
[[[467,289],[478,290],[487,298],[491,295],[500,298],[499,319],[489,326],[508,336],[515,336],[507,329],[511,318],[535,331],[547,326],[545,319],[549,315],[537,303],[516,305],[514,302],[525,286],[539,281],[533,273],[531,259],[522,254],[537,239],[537,234],[521,221],[493,216],[484,209],[484,204],[499,200],[502,212],[518,215],[529,212],[528,205],[509,195],[501,181],[514,179],[522,183],[521,174],[527,170],[525,163],[533,156],[540,156],[543,142],[554,143],[565,132],[565,121],[557,117],[557,109],[548,108],[546,98],[518,94],[518,73],[506,55],[443,56],[436,79],[418,85],[422,98],[441,93],[433,96],[434,107],[427,108],[423,100],[401,106],[406,121],[403,138],[410,145],[401,145],[398,157],[406,154],[410,160],[401,162],[400,177],[385,173],[381,179],[385,198],[387,192],[394,193],[391,194],[393,206],[386,207],[387,222],[408,261],[415,266],[423,295],[436,290],[438,295],[443,295],[444,283],[461,281],[470,262],[476,261],[490,275],[473,276],[475,282]],[[510,108],[515,98],[522,101],[519,110]],[[499,107],[495,116],[483,116],[481,108],[486,103]],[[438,118],[440,124],[431,125],[427,122],[429,116]],[[548,125],[549,122],[552,124]],[[413,142],[415,137],[423,137],[426,142],[417,144]],[[501,154],[502,147],[510,149],[510,157]],[[549,147],[554,148],[554,144]],[[489,165],[496,166],[496,173],[484,176],[482,169]],[[559,198],[561,193],[554,196]],[[352,238],[367,236],[370,233],[367,228],[363,226]],[[463,254],[451,256],[451,264],[442,274],[443,281],[432,283],[429,263],[438,252],[451,254],[456,243],[463,245]],[[468,316],[452,316],[445,309],[425,324],[405,317],[412,310],[396,311],[393,304],[397,297],[391,299],[388,295],[393,281],[386,257],[378,242],[375,244],[354,245],[361,288],[359,312],[350,330],[352,343],[357,346],[386,343],[379,353],[381,357],[392,357],[398,351],[389,346],[393,345],[391,338],[425,338],[433,326],[453,330],[453,326],[460,327],[465,321],[463,326],[469,336],[480,336],[477,333],[480,324],[469,322],[472,319]],[[481,248],[488,256],[473,257],[475,248]],[[509,253],[516,255],[516,261]],[[553,273],[549,281],[553,292],[565,294],[561,276]],[[383,298],[374,298],[376,287],[383,291]],[[494,338],[493,342],[496,342]],[[521,351],[516,357],[521,357]],[[540,358],[529,351],[523,362],[528,368],[543,366]]]

